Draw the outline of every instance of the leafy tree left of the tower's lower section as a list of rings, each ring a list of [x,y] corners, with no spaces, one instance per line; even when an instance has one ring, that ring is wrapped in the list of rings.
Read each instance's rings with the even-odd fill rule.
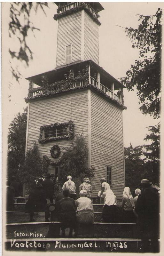
[[[26,145],[27,108],[24,113],[18,113],[10,124],[8,133],[8,166],[7,176],[12,175],[19,178],[19,170],[25,160]]]

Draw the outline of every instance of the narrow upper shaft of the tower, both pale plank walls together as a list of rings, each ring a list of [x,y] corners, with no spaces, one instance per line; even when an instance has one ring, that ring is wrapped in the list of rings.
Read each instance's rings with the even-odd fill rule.
[[[65,47],[72,44],[72,62],[92,59],[98,64],[98,24],[84,10],[58,20],[56,67],[65,64]]]

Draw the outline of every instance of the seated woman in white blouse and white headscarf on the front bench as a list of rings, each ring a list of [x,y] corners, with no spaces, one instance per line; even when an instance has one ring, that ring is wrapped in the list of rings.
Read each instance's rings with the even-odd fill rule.
[[[78,198],[75,203],[77,206],[76,221],[78,223],[93,223],[93,205],[91,200],[87,197],[87,191],[82,189],[80,191],[80,198]]]

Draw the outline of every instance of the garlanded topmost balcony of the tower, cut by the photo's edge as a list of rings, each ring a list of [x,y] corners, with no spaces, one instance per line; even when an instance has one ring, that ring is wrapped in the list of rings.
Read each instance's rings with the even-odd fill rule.
[[[99,2],[55,2],[58,6],[57,14],[54,15],[54,20],[70,15],[72,13],[85,10],[90,17],[98,24],[101,25],[98,18],[98,12],[104,10]]]

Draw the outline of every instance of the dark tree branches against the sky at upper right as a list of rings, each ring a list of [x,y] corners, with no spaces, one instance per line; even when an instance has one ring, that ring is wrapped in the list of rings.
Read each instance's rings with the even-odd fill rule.
[[[160,117],[160,81],[161,81],[161,16],[158,8],[155,15],[139,15],[141,24],[137,29],[125,28],[132,41],[133,48],[139,48],[139,60],[121,78],[128,90],[136,86],[139,108],[143,114]]]

